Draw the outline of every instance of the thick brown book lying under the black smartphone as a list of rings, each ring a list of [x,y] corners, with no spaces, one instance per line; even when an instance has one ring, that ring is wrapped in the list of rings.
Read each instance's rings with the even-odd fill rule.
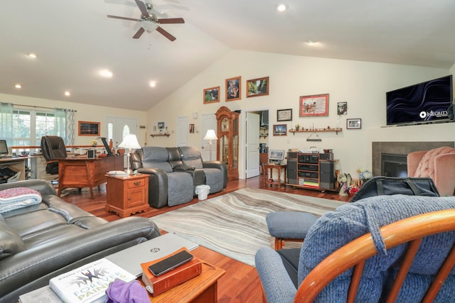
[[[198,258],[193,257],[186,263],[179,265],[177,268],[170,270],[163,275],[155,276],[149,270],[150,265],[154,265],[161,260],[165,260],[166,258],[171,257],[171,255],[175,255],[182,250],[186,250],[186,248],[181,248],[174,253],[164,256],[163,258],[159,258],[157,260],[153,260],[146,263],[141,263],[142,268],[142,282],[146,285],[146,290],[148,290],[153,296],[157,296],[170,290],[177,285],[181,285],[183,282],[186,282],[193,277],[200,275],[202,272],[202,263]],[[188,250],[186,250],[188,251]]]

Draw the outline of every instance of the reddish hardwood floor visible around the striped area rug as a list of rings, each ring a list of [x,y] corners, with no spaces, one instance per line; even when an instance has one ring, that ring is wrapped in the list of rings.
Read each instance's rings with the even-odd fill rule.
[[[253,177],[248,180],[233,180],[228,182],[228,187],[222,192],[217,194],[210,194],[209,199],[213,197],[220,196],[221,194],[226,194],[228,192],[233,192],[237,189],[243,187],[252,187],[260,188],[267,190],[274,190],[279,192],[289,192],[292,194],[302,194],[311,197],[320,197],[326,199],[334,199],[338,201],[348,202],[349,197],[341,197],[338,195],[338,192],[319,192],[316,190],[308,189],[299,189],[289,186],[282,186],[278,188],[277,186],[264,187],[262,175],[259,177]],[[85,211],[94,214],[95,216],[100,216],[107,221],[114,221],[119,219],[119,216],[116,214],[109,213],[105,211],[106,204],[106,188],[105,185],[99,187],[99,190],[94,189],[94,199],[90,198],[90,192],[88,189],[83,189],[82,192],[71,192],[63,199],[67,202],[75,204]],[[143,212],[141,214],[136,214],[135,216],[145,216],[147,218],[156,216],[158,214],[163,214],[166,211],[171,211],[173,209],[178,209],[189,204],[198,203],[198,199],[195,198],[191,202],[188,202],[183,205],[172,206],[172,207],[163,207],[161,209],[151,209],[150,211]],[[262,302],[262,286],[257,275],[257,271],[250,265],[238,262],[231,258],[221,255],[220,253],[215,253],[213,250],[205,250],[203,256],[200,256],[201,259],[205,262],[211,263],[219,268],[223,268],[226,273],[218,281],[218,302]]]

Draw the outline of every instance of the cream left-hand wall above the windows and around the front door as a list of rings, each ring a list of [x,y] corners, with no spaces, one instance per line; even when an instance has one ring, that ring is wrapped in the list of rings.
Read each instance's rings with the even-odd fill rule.
[[[77,121],[90,121],[100,122],[101,136],[107,137],[107,116],[117,116],[124,118],[138,119],[139,126],[146,125],[146,113],[144,111],[132,111],[127,109],[115,109],[112,107],[77,104],[68,101],[56,101],[50,99],[38,99],[31,97],[15,96],[11,94],[0,94],[0,102],[8,102],[13,104],[29,105],[29,106],[43,106],[43,107],[58,107],[61,109],[73,109],[77,111],[75,114],[75,145],[90,145],[90,141],[95,136],[77,136]],[[24,109],[31,109],[31,107],[24,107]],[[39,109],[39,108],[38,108]],[[144,145],[146,142],[146,130],[139,129],[138,133],[139,144]],[[101,142],[100,142],[101,143]]]

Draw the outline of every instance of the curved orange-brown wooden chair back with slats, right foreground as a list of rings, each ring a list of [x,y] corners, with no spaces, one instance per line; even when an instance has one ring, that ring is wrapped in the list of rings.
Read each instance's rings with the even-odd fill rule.
[[[409,243],[392,289],[387,294],[387,302],[395,302],[414,256],[419,250],[422,238],[435,233],[454,230],[455,209],[413,216],[380,228],[387,250],[402,243]],[[339,248],[311,270],[309,275],[301,282],[294,302],[313,302],[326,285],[350,268],[354,269],[347,302],[354,302],[365,260],[376,254],[377,251],[371,233],[367,233]],[[455,249],[452,247],[422,302],[433,302],[454,264]]]

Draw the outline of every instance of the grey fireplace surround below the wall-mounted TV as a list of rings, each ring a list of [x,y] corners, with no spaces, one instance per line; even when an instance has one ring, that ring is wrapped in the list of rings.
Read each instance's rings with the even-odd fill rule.
[[[407,155],[418,150],[431,150],[433,148],[439,148],[441,146],[450,146],[455,148],[453,141],[446,142],[373,142],[372,148],[372,170],[373,176],[379,176],[381,174],[381,154],[397,154]]]

